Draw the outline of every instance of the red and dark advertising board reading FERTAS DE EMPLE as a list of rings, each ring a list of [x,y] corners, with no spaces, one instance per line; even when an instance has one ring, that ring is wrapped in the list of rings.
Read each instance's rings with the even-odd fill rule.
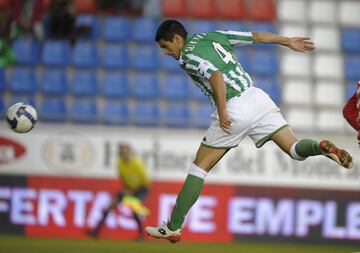
[[[111,196],[121,189],[117,180],[110,179],[17,179],[22,183],[0,180],[0,217],[10,226],[23,226],[26,236],[86,238],[85,231],[96,225]],[[151,214],[144,218],[145,225],[168,219],[180,187],[181,183],[152,183],[145,202]],[[119,205],[108,216],[100,238],[136,238],[131,216]],[[11,229],[0,227],[0,233],[6,232]],[[356,242],[360,240],[360,196],[352,191],[205,184],[182,234],[185,241]]]

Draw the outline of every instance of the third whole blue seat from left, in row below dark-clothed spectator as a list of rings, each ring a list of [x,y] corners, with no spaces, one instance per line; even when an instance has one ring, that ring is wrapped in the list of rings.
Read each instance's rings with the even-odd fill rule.
[[[73,49],[72,63],[80,68],[96,67],[98,65],[96,45],[89,41],[78,41]]]

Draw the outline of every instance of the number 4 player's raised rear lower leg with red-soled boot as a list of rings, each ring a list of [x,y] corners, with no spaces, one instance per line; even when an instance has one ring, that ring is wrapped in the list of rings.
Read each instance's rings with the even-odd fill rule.
[[[272,140],[293,159],[301,161],[309,156],[324,155],[345,168],[352,167],[351,155],[328,140],[317,142],[303,139],[298,141],[289,127],[274,134]]]

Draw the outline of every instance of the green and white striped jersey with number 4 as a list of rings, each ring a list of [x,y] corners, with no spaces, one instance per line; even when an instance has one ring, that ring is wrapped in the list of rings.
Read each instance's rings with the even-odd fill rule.
[[[237,61],[233,46],[253,43],[251,32],[216,31],[189,36],[180,54],[179,63],[194,83],[215,105],[215,96],[209,79],[214,71],[223,73],[226,101],[253,85]]]

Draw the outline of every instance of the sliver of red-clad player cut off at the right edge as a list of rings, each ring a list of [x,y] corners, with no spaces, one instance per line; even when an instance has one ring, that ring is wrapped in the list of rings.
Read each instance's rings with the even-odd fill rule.
[[[356,131],[360,146],[360,81],[357,82],[356,91],[346,102],[343,108],[343,116]]]

